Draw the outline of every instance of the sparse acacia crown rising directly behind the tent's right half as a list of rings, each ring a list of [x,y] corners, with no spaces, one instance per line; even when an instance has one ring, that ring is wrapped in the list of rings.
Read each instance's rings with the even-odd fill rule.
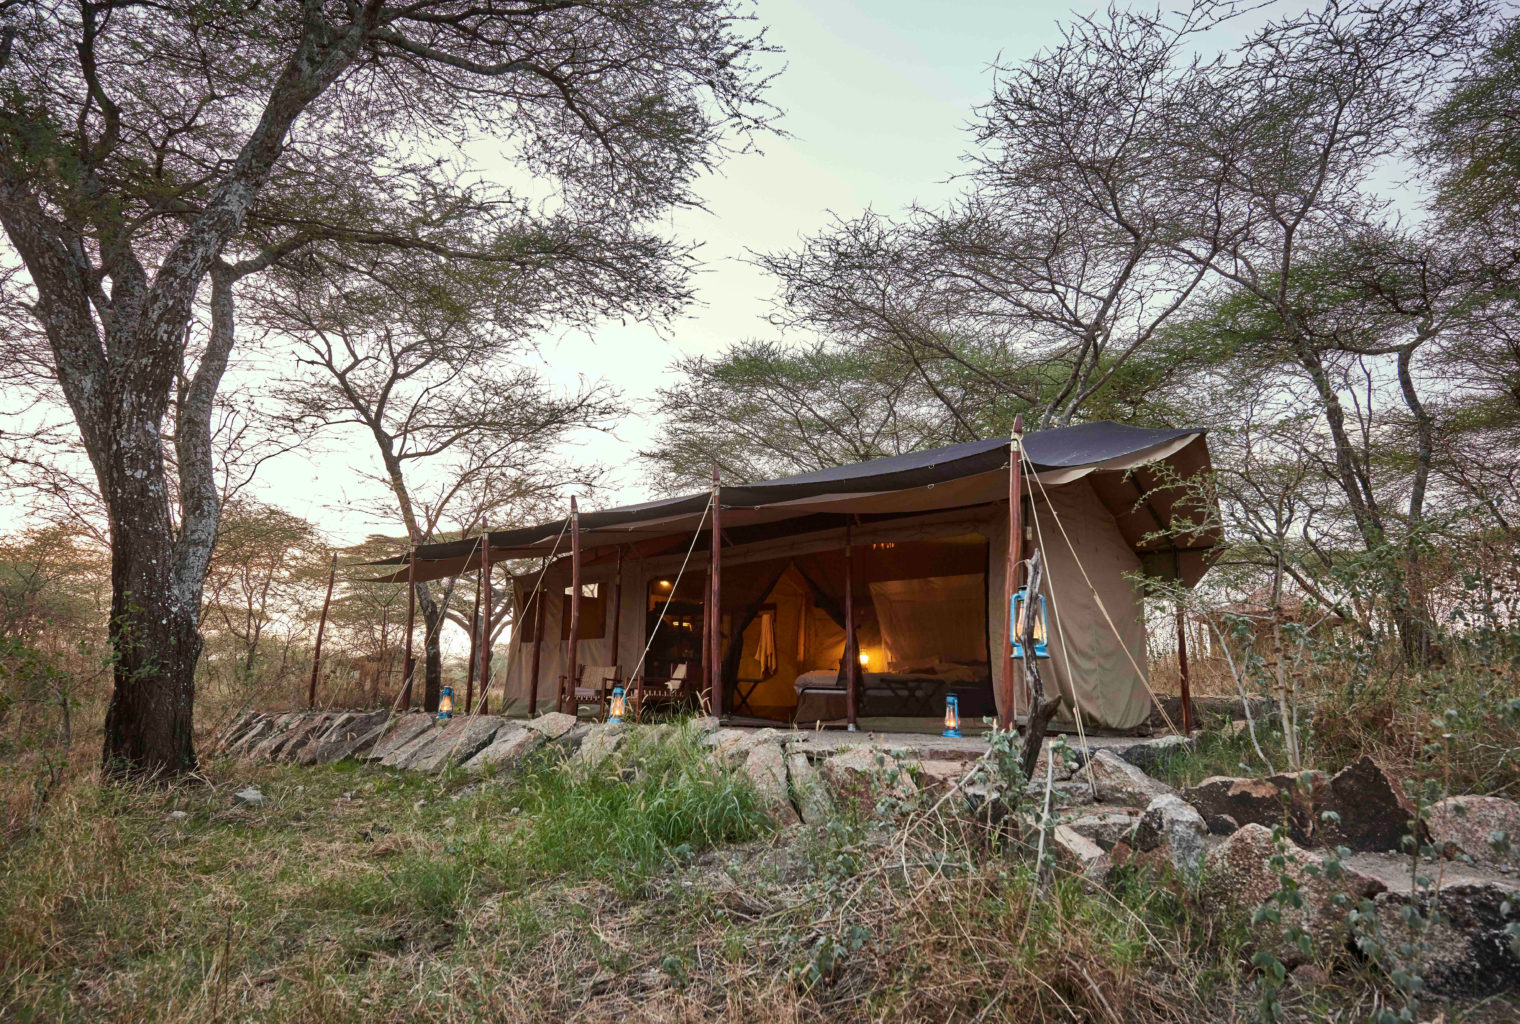
[[[891,354],[950,441],[1006,430],[1014,412],[1064,425],[1135,383],[1131,359],[1207,275],[1178,243],[1221,220],[1176,117],[1198,71],[1187,47],[1219,11],[1111,9],[999,67],[967,191],[762,257],[783,286],[775,321]]]

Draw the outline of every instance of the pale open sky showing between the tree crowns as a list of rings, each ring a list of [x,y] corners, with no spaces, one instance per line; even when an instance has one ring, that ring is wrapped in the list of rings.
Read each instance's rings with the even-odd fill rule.
[[[1088,8],[1075,8],[1087,12]],[[775,293],[771,278],[745,263],[746,251],[789,248],[830,216],[866,207],[897,211],[914,201],[936,202],[953,185],[967,149],[971,108],[991,94],[988,65],[1023,59],[1058,41],[1061,3],[991,0],[760,0],[769,38],[784,50],[786,71],[771,100],[790,137],[762,140],[763,155],[730,160],[699,184],[707,211],[673,217],[675,237],[702,243],[704,269],[695,280],[698,305],[666,337],[644,325],[603,325],[591,334],[543,342],[553,380],[605,377],[638,403],[664,383],[681,354],[711,354],[745,337],[775,337],[766,322]],[[587,438],[576,457],[614,466],[614,486],[591,507],[651,497],[634,460],[654,424],[637,412],[616,436]],[[398,532],[394,521],[357,514],[372,494],[378,459],[365,436],[328,439],[319,456],[289,454],[268,463],[255,492],[316,521],[334,544],[366,533]]]

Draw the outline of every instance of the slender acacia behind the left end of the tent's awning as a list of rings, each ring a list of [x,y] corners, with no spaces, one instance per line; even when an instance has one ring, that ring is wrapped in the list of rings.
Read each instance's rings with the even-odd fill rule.
[[[575,260],[544,261],[541,281],[515,269],[503,280],[494,266],[410,258],[372,261],[363,273],[309,267],[280,275],[260,316],[296,342],[302,372],[283,386],[286,415],[298,430],[366,436],[386,494],[378,510],[395,517],[413,544],[441,529],[462,535],[482,521],[500,527],[537,512],[578,480],[556,448],[619,406],[600,383],[556,393],[521,359],[524,336],[547,318],[584,321],[599,305],[658,313],[657,302],[679,295],[670,260],[635,258],[658,252],[658,240],[632,240],[632,252],[619,251],[619,242],[584,235]],[[597,277],[605,287],[588,287],[590,264],[629,275]],[[424,706],[432,710],[448,609],[427,583],[416,585],[416,600],[426,623]]]

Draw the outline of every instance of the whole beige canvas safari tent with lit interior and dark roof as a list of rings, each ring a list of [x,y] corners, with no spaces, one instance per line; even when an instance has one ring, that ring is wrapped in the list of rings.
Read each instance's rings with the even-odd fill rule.
[[[938,729],[948,693],[968,722],[1023,711],[1003,685],[1017,536],[1020,564],[1044,564],[1047,685],[1088,726],[1129,729],[1151,713],[1135,580],[1204,574],[1207,469],[1201,430],[1093,422],[424,545],[391,579],[537,559],[494,583],[518,609],[491,676],[508,714],[644,684],[740,723]]]

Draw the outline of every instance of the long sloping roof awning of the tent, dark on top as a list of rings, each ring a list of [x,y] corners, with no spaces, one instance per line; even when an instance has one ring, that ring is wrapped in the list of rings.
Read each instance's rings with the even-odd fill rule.
[[[1117,422],[1090,422],[1024,435],[1024,453],[1044,486],[1093,476],[1093,488],[1114,514],[1120,530],[1142,555],[1148,571],[1196,582],[1207,553],[1219,542],[1214,501],[1199,491],[1210,468],[1204,431],[1154,430]],[[1166,465],[1166,469],[1157,466]],[[725,485],[720,491],[724,530],[762,527],[787,520],[830,515],[892,517],[1006,501],[1009,439],[968,441],[945,448],[912,451],[871,462],[830,466],[780,480]],[[1149,468],[1149,469],[1148,469]],[[600,512],[581,514],[581,548],[660,541],[689,541],[702,527],[710,494],[702,491]],[[491,561],[568,552],[568,520],[515,530],[491,530]],[[464,538],[416,548],[416,579],[433,580],[480,565],[482,538]],[[1167,564],[1170,559],[1170,565]],[[407,555],[369,562],[401,565]],[[1184,567],[1183,564],[1187,562]],[[406,570],[377,582],[404,583]]]

